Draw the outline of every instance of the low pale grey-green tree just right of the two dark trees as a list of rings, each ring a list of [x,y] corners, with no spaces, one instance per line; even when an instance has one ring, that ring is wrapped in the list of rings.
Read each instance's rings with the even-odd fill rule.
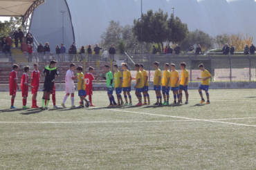
[[[188,50],[194,44],[200,44],[202,50],[208,50],[213,46],[213,39],[201,30],[194,30],[189,32],[188,36],[181,42],[181,48]]]

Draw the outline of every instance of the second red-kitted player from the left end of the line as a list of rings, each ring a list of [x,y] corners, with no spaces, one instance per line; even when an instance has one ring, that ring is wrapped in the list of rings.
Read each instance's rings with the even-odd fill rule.
[[[27,109],[27,97],[28,97],[28,72],[29,72],[29,67],[25,66],[24,67],[24,73],[21,77],[21,92],[22,92],[22,103],[23,103],[23,109]]]

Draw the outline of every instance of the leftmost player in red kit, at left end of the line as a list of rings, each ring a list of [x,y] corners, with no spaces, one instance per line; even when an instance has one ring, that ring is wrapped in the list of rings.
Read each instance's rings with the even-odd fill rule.
[[[17,64],[13,64],[12,72],[9,75],[9,89],[10,89],[10,95],[12,96],[11,105],[10,105],[11,109],[16,108],[14,106],[14,103],[15,103],[15,97],[16,97],[17,89],[19,89],[18,77],[17,77],[18,69],[19,69],[19,66]]]

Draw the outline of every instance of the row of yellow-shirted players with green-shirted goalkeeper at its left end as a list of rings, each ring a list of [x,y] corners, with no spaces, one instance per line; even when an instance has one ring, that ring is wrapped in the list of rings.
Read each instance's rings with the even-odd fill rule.
[[[154,105],[162,106],[162,105],[169,105],[170,100],[170,90],[174,95],[174,104],[182,104],[183,98],[183,91],[185,91],[185,104],[188,104],[188,80],[189,80],[189,73],[186,70],[185,62],[180,64],[181,67],[181,79],[179,79],[179,73],[176,70],[175,64],[168,64],[166,63],[162,71],[159,68],[159,62],[154,62],[154,91],[156,92],[156,103]],[[143,68],[143,64],[135,64],[134,65],[136,72],[136,78],[131,77],[130,71],[127,69],[127,64],[122,63],[122,73],[118,70],[118,66],[114,65],[114,75],[111,73],[111,69],[109,66],[105,66],[106,68],[106,76],[104,78],[107,79],[107,94],[109,96],[109,106],[122,106],[122,105],[129,105],[131,106],[131,80],[135,79],[136,84],[135,88],[135,95],[138,98],[138,104],[136,106],[143,106],[149,105],[149,82],[148,82],[148,75],[147,71]],[[210,85],[210,78],[212,77],[208,70],[205,69],[203,64],[199,65],[199,69],[201,70],[201,77],[197,77],[197,79],[201,79],[201,86],[199,86],[199,95],[201,97],[201,104],[205,102],[203,98],[202,91],[205,91],[205,95],[207,97],[206,104],[210,104],[210,97],[209,97],[209,85]],[[116,97],[118,99],[118,104],[116,104],[114,97],[113,97],[113,90],[116,89]],[[122,93],[125,97],[125,103],[122,100]],[[161,93],[162,91],[162,93]],[[143,97],[142,97],[143,94]],[[162,102],[162,95],[163,100]],[[129,102],[128,99],[129,98]],[[144,103],[142,101],[144,98]]]

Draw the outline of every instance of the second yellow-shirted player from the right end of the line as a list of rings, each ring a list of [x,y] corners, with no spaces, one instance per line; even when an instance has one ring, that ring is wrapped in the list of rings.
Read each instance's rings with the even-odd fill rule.
[[[185,62],[180,64],[181,66],[181,82],[179,86],[179,104],[182,104],[182,91],[185,91],[186,102],[188,104],[188,70],[186,70]]]

